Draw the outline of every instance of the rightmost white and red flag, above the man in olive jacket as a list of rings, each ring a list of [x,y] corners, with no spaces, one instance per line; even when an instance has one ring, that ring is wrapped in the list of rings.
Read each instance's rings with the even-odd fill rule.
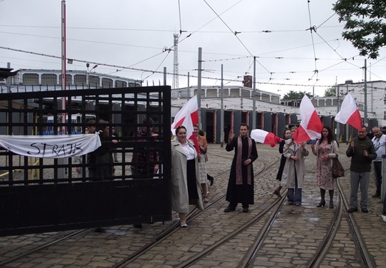
[[[357,104],[350,93],[347,94],[343,103],[341,103],[341,110],[335,116],[335,121],[342,124],[350,124],[350,126],[354,126],[358,130],[362,129],[361,113],[359,113]]]

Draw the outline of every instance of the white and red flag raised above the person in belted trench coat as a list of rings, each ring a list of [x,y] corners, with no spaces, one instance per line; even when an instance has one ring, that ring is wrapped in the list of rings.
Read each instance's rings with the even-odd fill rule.
[[[322,137],[323,124],[320,121],[319,116],[311,103],[309,97],[304,95],[302,102],[300,103],[300,126],[293,133],[293,139],[298,144],[300,142],[306,142],[311,139],[320,139]]]

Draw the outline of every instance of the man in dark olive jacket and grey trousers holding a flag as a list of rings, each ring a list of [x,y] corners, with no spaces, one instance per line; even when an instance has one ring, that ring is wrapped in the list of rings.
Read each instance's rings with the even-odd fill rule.
[[[367,204],[369,201],[369,183],[371,163],[376,159],[374,144],[367,137],[367,128],[362,127],[358,131],[358,137],[352,139],[346,155],[351,157],[350,164],[350,209],[349,213],[358,211],[358,188],[361,185],[361,211],[369,212]]]

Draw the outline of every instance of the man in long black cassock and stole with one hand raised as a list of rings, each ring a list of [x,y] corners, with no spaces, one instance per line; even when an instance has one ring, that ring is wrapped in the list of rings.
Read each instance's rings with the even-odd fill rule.
[[[235,211],[237,204],[243,204],[243,212],[249,211],[249,205],[254,204],[254,175],[252,163],[257,159],[256,142],[248,137],[249,126],[242,123],[240,125],[239,137],[234,137],[232,130],[229,133],[226,150],[230,152],[234,149],[234,157],[226,200],[229,205],[224,212]]]

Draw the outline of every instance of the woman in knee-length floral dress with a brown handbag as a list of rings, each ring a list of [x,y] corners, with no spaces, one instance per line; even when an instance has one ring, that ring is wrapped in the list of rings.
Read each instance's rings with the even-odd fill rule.
[[[333,132],[330,127],[323,126],[322,138],[320,138],[315,146],[312,144],[311,149],[314,155],[317,156],[316,160],[316,182],[320,188],[320,202],[317,207],[324,206],[326,201],[324,196],[326,190],[330,194],[330,209],[334,208],[334,187],[335,178],[333,178],[333,158],[338,157],[338,144],[333,137]]]

